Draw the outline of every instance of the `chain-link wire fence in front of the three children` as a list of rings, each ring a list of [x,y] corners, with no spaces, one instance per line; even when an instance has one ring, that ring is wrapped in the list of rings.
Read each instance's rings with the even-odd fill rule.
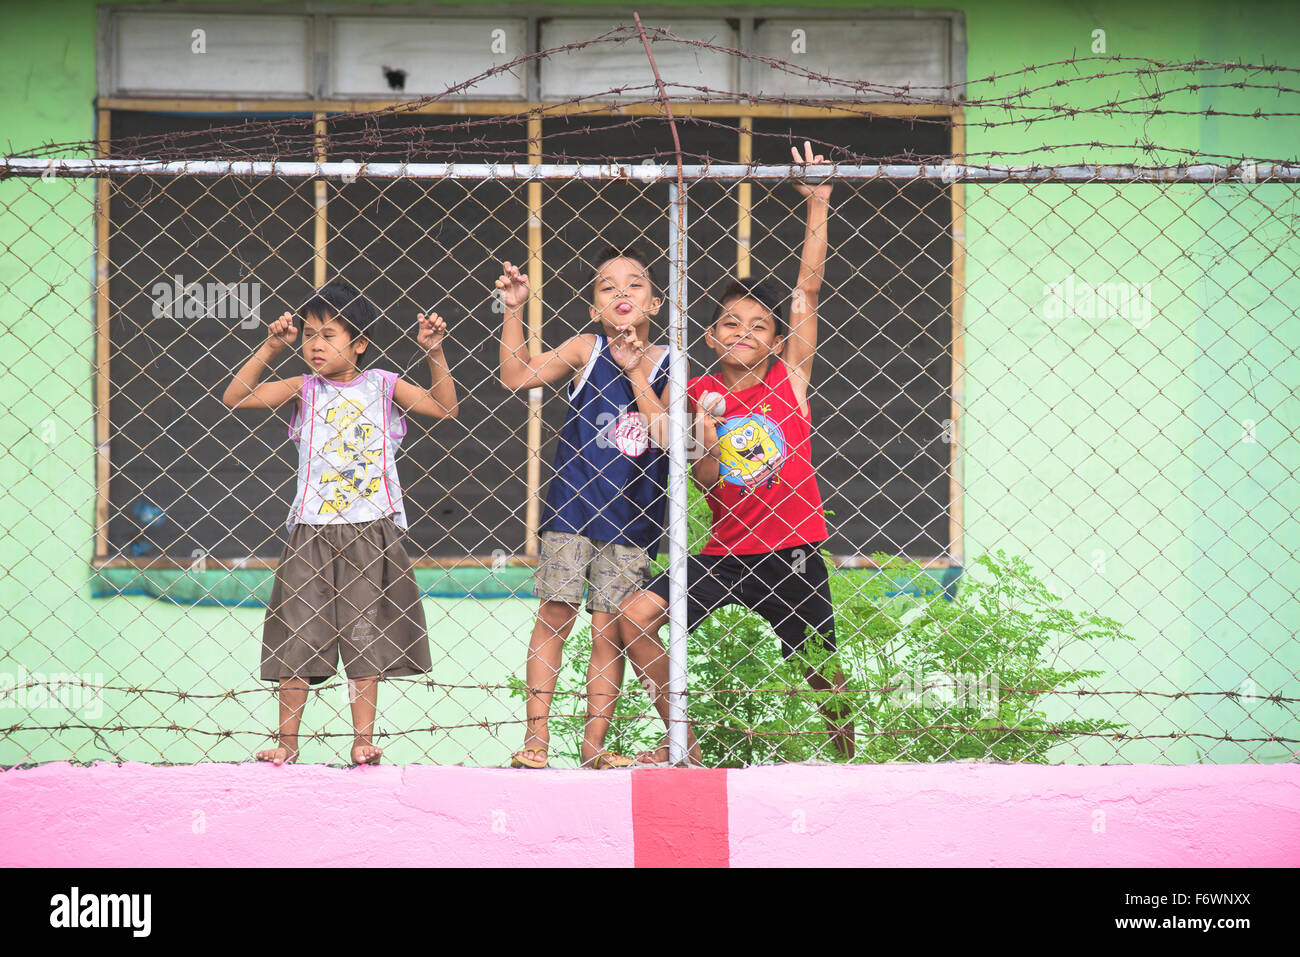
[[[552,766],[586,757],[589,709],[610,718],[610,752],[659,748],[660,692],[711,766],[1294,761],[1300,170],[974,165],[952,101],[910,156],[907,122],[848,107],[792,120],[679,104],[672,146],[659,103],[642,105],[209,124],[176,159],[165,120],[124,116],[104,159],[0,163],[4,361],[22,369],[0,761],[244,761],[274,739],[259,637],[298,505],[294,406],[229,408],[222,391],[276,317],[303,328],[329,281],[377,307],[365,368],[421,391],[416,316],[437,312],[459,404],[408,415],[395,458],[432,667],[380,683],[374,741],[387,761],[488,766],[540,742],[525,662],[546,497],[566,417],[614,354],[598,341],[551,385],[507,387],[495,281],[506,261],[528,277],[517,315],[543,355],[608,334],[601,250],[633,244],[659,300],[647,341],[667,347],[650,360],[667,416],[663,430],[597,425],[603,449],[663,463],[646,472],[662,495],[637,508],[667,529],[646,571],[673,580],[675,622],[593,628],[580,603],[547,709]],[[789,165],[805,139],[826,163]],[[723,605],[688,637],[686,593],[702,592],[681,588],[685,558],[714,515],[686,481],[710,460],[708,437],[688,434],[686,381],[775,382],[734,378],[742,350],[718,345],[729,278],[777,291],[786,335],[760,372],[809,363],[819,501],[783,498],[775,518],[798,538],[815,507],[826,534],[783,537],[780,568],[750,557],[733,594],[767,616]],[[771,319],[741,299],[741,325]],[[264,380],[307,374],[302,342]],[[746,510],[794,481],[800,438],[789,410],[741,393],[711,420],[703,484],[733,485],[714,505],[748,528]],[[836,650],[786,658],[779,636],[826,631],[784,618],[820,564]],[[667,684],[625,668],[647,641],[675,654]],[[595,701],[589,662],[610,642],[602,675],[621,694]],[[352,698],[342,671],[311,687],[300,759],[347,753]]]

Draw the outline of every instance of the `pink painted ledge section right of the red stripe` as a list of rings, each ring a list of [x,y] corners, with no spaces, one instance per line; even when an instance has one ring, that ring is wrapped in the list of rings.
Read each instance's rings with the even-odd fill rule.
[[[1300,863],[1300,765],[777,766],[727,789],[733,867]]]

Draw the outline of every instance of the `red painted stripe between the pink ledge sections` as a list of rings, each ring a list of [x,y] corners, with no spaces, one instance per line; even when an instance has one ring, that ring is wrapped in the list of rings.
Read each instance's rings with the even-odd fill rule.
[[[673,767],[632,771],[637,867],[727,867],[727,771]]]

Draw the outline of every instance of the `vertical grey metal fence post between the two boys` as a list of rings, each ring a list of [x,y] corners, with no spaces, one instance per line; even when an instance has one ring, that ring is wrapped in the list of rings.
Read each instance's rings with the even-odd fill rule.
[[[686,187],[668,183],[668,762],[686,759]]]

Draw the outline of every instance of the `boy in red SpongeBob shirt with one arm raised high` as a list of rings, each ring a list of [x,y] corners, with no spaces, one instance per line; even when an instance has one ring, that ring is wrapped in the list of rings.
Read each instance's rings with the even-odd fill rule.
[[[796,163],[820,164],[812,147]],[[807,391],[816,354],[816,304],[826,272],[831,185],[798,183],[807,198],[807,226],[786,333],[781,303],[762,282],[733,281],[719,298],[706,342],[718,354],[716,376],[690,380],[702,452],[692,473],[712,511],[712,536],[686,566],[686,628],[694,629],[723,605],[744,605],[766,618],[789,658],[803,646],[807,628],[835,650],[831,586],[819,546],[827,538],[822,493],[812,471],[812,416]],[[656,576],[621,606],[629,627],[627,655],[651,689],[667,723],[668,657],[659,629],[668,620],[668,577]],[[810,687],[842,690],[844,676],[828,681],[811,666]],[[838,754],[853,757],[853,724],[828,714]],[[638,759],[667,761],[667,748]],[[692,758],[698,745],[692,740]],[[647,762],[646,762],[647,763]]]

